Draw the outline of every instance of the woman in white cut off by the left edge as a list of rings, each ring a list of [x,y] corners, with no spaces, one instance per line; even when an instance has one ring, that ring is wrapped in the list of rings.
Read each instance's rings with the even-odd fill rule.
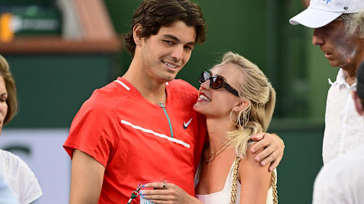
[[[3,126],[10,122],[18,110],[14,78],[9,64],[0,55],[0,134]],[[38,180],[18,156],[0,149],[0,175],[9,184],[20,204],[27,204],[42,194]]]

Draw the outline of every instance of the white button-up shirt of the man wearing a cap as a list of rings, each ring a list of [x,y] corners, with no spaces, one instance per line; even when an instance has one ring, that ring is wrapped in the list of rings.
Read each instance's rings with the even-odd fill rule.
[[[326,103],[324,164],[355,147],[364,146],[364,120],[356,112],[351,97],[356,83],[349,86],[347,76],[347,72],[340,69],[336,82],[332,83],[329,79],[331,87]]]

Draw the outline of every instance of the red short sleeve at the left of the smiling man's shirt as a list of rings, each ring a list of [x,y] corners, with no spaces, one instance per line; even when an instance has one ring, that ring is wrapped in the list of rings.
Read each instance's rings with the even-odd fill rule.
[[[118,118],[112,107],[91,97],[73,119],[63,147],[71,158],[73,150],[77,149],[92,156],[106,168],[110,155],[118,146],[119,131]]]

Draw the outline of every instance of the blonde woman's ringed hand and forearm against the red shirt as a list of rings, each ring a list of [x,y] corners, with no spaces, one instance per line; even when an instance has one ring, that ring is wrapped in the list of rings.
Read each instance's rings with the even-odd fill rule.
[[[141,190],[140,195],[154,203],[202,203],[197,198],[191,196],[174,183],[167,183],[166,188],[163,188],[162,182],[148,183],[143,187],[155,188],[155,190]]]

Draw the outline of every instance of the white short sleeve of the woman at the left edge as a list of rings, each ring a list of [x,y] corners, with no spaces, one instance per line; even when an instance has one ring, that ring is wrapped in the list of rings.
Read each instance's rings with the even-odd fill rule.
[[[6,151],[5,151],[6,152]],[[28,204],[42,195],[40,185],[28,165],[18,156],[6,152],[9,185],[21,204]]]

